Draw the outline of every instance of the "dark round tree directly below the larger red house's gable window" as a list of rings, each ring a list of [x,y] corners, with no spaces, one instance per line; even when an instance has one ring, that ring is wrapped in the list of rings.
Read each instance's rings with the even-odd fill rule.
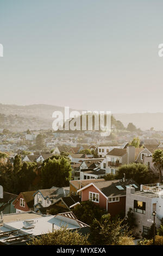
[[[73,213],[76,215],[78,220],[90,225],[94,218],[97,220],[101,219],[101,216],[104,214],[104,210],[101,210],[99,205],[96,205],[92,201],[84,201],[73,209]]]

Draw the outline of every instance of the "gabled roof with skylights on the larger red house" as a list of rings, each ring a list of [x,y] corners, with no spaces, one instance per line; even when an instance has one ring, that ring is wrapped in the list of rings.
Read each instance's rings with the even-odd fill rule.
[[[137,188],[136,191],[140,190],[139,184],[137,184],[133,179],[128,179],[126,181],[119,181],[119,180],[109,180],[109,181],[99,181],[94,184],[94,182],[90,183],[89,185],[81,188],[79,191],[85,190],[89,186],[95,186],[97,190],[101,191],[105,197],[120,197],[126,196],[126,186],[135,184]],[[119,190],[117,186],[121,186],[123,189]]]

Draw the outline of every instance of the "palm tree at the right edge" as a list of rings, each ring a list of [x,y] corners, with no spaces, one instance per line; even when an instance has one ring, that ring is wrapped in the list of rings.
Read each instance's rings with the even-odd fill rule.
[[[163,169],[163,151],[161,149],[156,149],[152,155],[152,161],[154,167],[159,172],[159,180],[162,183],[162,169]]]

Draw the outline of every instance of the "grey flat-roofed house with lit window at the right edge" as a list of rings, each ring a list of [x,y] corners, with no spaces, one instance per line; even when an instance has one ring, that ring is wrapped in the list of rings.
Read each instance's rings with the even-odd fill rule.
[[[163,217],[163,184],[141,185],[139,191],[135,187],[127,187],[126,215],[129,209],[134,212],[135,224],[134,235],[142,237],[148,234],[153,223],[152,212],[156,211],[156,228],[160,226]]]

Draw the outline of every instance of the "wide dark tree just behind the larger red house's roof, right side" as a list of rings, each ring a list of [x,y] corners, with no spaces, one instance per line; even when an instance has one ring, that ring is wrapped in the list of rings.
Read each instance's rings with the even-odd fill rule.
[[[122,179],[123,176],[126,179],[133,179],[138,184],[149,184],[154,181],[155,175],[152,171],[148,170],[148,167],[142,163],[130,163],[124,164],[117,169],[116,179]]]

